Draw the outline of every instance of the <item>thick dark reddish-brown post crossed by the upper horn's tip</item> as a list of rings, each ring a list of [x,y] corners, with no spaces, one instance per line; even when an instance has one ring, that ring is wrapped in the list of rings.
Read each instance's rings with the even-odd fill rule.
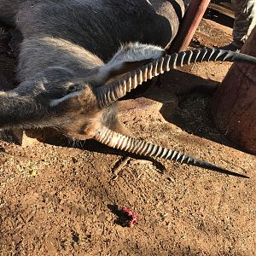
[[[241,49],[256,57],[256,27]],[[256,154],[256,66],[234,63],[212,98],[212,119],[233,142]]]

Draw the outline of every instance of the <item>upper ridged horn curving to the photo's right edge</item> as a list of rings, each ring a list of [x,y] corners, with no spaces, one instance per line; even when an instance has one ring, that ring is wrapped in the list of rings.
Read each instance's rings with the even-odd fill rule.
[[[224,49],[194,49],[187,50],[172,55],[160,57],[147,65],[137,68],[127,73],[121,79],[96,88],[97,102],[100,108],[104,108],[126,95],[131,89],[135,89],[138,84],[146,82],[165,73],[171,68],[182,67],[183,65],[202,61],[241,61],[256,65],[256,58],[237,52]]]

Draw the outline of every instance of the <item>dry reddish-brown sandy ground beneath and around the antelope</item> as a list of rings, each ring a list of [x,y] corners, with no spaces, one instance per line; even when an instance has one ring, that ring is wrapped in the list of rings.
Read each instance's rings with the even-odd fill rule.
[[[15,57],[9,29],[1,28],[6,90]],[[229,27],[205,19],[192,47],[230,41]],[[153,160],[130,161],[113,180],[113,166],[140,158],[94,142],[0,141],[1,255],[255,255],[256,159],[221,135],[209,115],[212,89],[229,67],[205,63],[168,73],[162,87],[121,102],[120,118],[137,137],[250,179]],[[134,209],[138,224],[120,225],[115,205]]]

